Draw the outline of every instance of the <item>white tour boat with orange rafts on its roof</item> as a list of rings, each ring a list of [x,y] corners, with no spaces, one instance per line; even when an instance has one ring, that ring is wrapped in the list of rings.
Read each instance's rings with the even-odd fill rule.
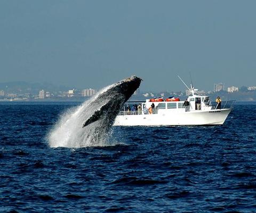
[[[198,89],[192,85],[189,90],[192,95],[187,99],[189,102],[187,111],[183,105],[184,101],[127,102],[124,105],[124,110],[116,117],[114,126],[222,125],[225,122],[234,107],[235,100],[222,101],[221,108],[218,109],[219,104],[212,105],[210,96],[197,94]],[[145,106],[150,109],[152,103],[155,104],[152,113],[143,111]],[[127,111],[127,105],[135,104],[140,104],[142,110]]]

